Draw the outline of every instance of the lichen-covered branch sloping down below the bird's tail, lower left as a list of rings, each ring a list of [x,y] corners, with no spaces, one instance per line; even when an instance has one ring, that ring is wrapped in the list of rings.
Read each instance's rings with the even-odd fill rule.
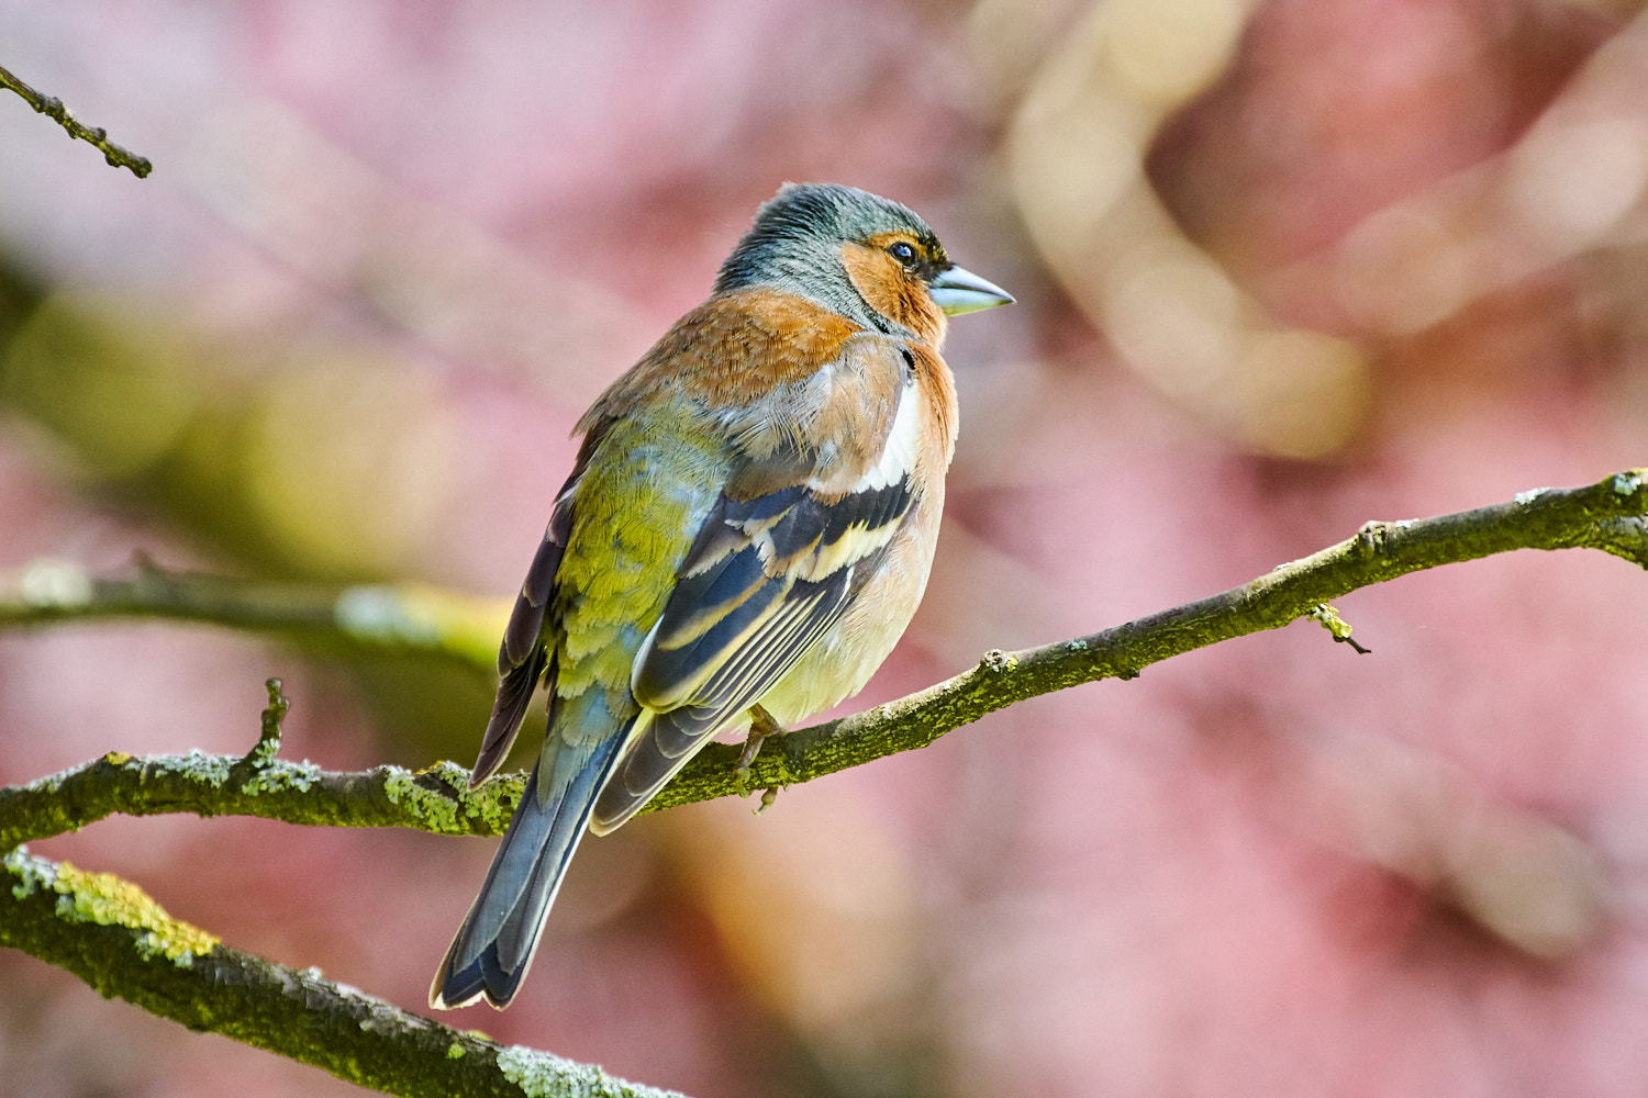
[[[66,968],[196,1032],[279,1052],[409,1098],[669,1098],[547,1052],[503,1047],[382,999],[241,953],[135,884],[23,849],[0,863],[0,947]],[[679,1098],[679,1095],[676,1096]]]

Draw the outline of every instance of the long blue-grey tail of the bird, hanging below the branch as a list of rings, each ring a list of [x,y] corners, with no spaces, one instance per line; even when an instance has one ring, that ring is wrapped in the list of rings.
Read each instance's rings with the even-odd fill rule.
[[[432,1007],[448,1011],[481,998],[499,1011],[509,1006],[623,741],[623,729],[605,737],[547,803],[537,795],[542,762],[532,767],[486,882],[435,973]]]

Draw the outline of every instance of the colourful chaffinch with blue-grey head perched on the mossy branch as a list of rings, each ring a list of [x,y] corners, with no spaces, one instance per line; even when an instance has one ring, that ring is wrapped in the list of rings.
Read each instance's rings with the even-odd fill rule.
[[[432,1007],[506,1007],[583,833],[630,820],[717,733],[758,746],[864,688],[933,563],[948,318],[1012,300],[906,206],[789,183],[710,296],[578,420],[471,789],[539,682],[544,746]]]

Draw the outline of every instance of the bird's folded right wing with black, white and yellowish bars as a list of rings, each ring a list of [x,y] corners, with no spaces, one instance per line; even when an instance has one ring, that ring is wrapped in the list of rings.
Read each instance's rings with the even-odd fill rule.
[[[638,723],[590,830],[625,823],[834,626],[918,492],[921,395],[897,341],[860,336],[728,426],[745,461],[699,528],[631,668]]]

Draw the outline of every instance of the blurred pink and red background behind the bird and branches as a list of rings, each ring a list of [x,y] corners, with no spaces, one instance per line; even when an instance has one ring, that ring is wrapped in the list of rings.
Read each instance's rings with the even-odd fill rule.
[[[1630,0],[49,5],[0,64],[0,568],[514,591],[585,403],[784,179],[966,318],[926,604],[860,701],[1648,461]],[[1648,581],[1531,553],[580,853],[508,1014],[707,1096],[1640,1095]],[[488,685],[173,626],[0,635],[0,782],[468,761]],[[522,739],[532,739],[531,734]],[[422,1009],[491,844],[112,820],[40,853]],[[0,955],[0,1090],[358,1093]]]

